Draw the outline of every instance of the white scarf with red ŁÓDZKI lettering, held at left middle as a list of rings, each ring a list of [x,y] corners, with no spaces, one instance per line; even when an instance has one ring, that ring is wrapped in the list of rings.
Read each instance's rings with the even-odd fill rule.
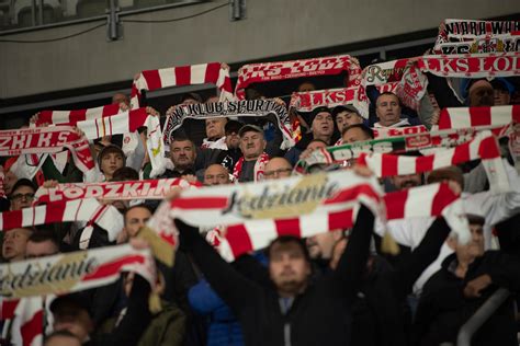
[[[190,183],[179,177],[90,184],[69,183],[58,184],[50,188],[39,187],[35,197],[38,204],[86,198],[110,200],[163,199],[173,187],[188,188],[191,186],[202,186],[202,184],[199,182]]]

